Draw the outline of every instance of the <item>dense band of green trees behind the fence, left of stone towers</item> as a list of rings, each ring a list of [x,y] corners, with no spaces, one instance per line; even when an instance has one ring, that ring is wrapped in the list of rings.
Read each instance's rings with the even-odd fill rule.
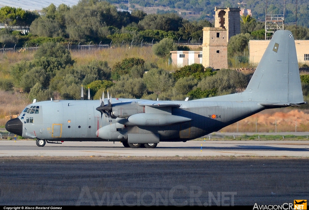
[[[189,22],[177,13],[150,14],[140,10],[118,12],[106,1],[79,1],[69,7],[51,4],[42,9],[41,15],[13,7],[0,9],[0,45],[6,47],[40,46],[44,42],[110,43],[121,46],[144,42],[159,42],[163,38],[187,40],[202,37],[202,28],[211,26],[206,20]],[[14,32],[19,26],[25,33]],[[30,33],[29,32],[30,29]],[[191,39],[191,40],[192,40]]]

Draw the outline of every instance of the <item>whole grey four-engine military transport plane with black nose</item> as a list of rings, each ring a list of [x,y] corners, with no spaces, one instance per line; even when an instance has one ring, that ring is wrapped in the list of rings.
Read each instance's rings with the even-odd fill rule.
[[[36,145],[63,141],[121,141],[155,148],[160,141],[188,141],[218,131],[264,109],[303,101],[295,42],[290,31],[274,33],[242,93],[193,101],[108,98],[42,101],[28,105],[6,130]]]

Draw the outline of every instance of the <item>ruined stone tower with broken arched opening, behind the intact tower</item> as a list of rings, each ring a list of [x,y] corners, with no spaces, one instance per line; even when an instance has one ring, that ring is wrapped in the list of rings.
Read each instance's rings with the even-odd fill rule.
[[[240,34],[240,14],[239,8],[214,8],[215,21],[214,27],[226,29],[227,40],[229,42],[232,36]]]

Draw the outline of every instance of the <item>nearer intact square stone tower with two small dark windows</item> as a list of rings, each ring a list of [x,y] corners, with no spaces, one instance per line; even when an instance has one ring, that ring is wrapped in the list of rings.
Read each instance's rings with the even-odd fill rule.
[[[227,69],[226,39],[226,29],[204,27],[202,64],[205,68]]]

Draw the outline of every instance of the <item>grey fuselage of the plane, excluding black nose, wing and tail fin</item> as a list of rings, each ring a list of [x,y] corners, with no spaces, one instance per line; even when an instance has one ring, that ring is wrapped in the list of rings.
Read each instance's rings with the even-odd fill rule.
[[[140,102],[140,100],[133,99],[130,101]],[[154,133],[159,134],[160,141],[187,141],[218,131],[226,125],[265,109],[258,103],[249,101],[171,102],[181,105],[179,108],[171,108],[171,115],[192,120],[163,126],[122,125],[116,123],[116,119],[112,117],[103,115],[101,119],[100,112],[95,109],[99,101],[37,102],[28,105],[28,110],[25,109],[19,119],[23,124],[22,136],[26,138],[49,141],[127,141],[127,134]],[[114,100],[114,103],[121,104],[122,100]],[[34,106],[35,108],[29,111]],[[36,109],[37,107],[39,109]],[[145,109],[141,113],[145,113]],[[117,138],[99,138],[96,132],[104,126],[110,126],[110,132],[114,133],[113,136]],[[118,138],[118,133],[124,137]]]

